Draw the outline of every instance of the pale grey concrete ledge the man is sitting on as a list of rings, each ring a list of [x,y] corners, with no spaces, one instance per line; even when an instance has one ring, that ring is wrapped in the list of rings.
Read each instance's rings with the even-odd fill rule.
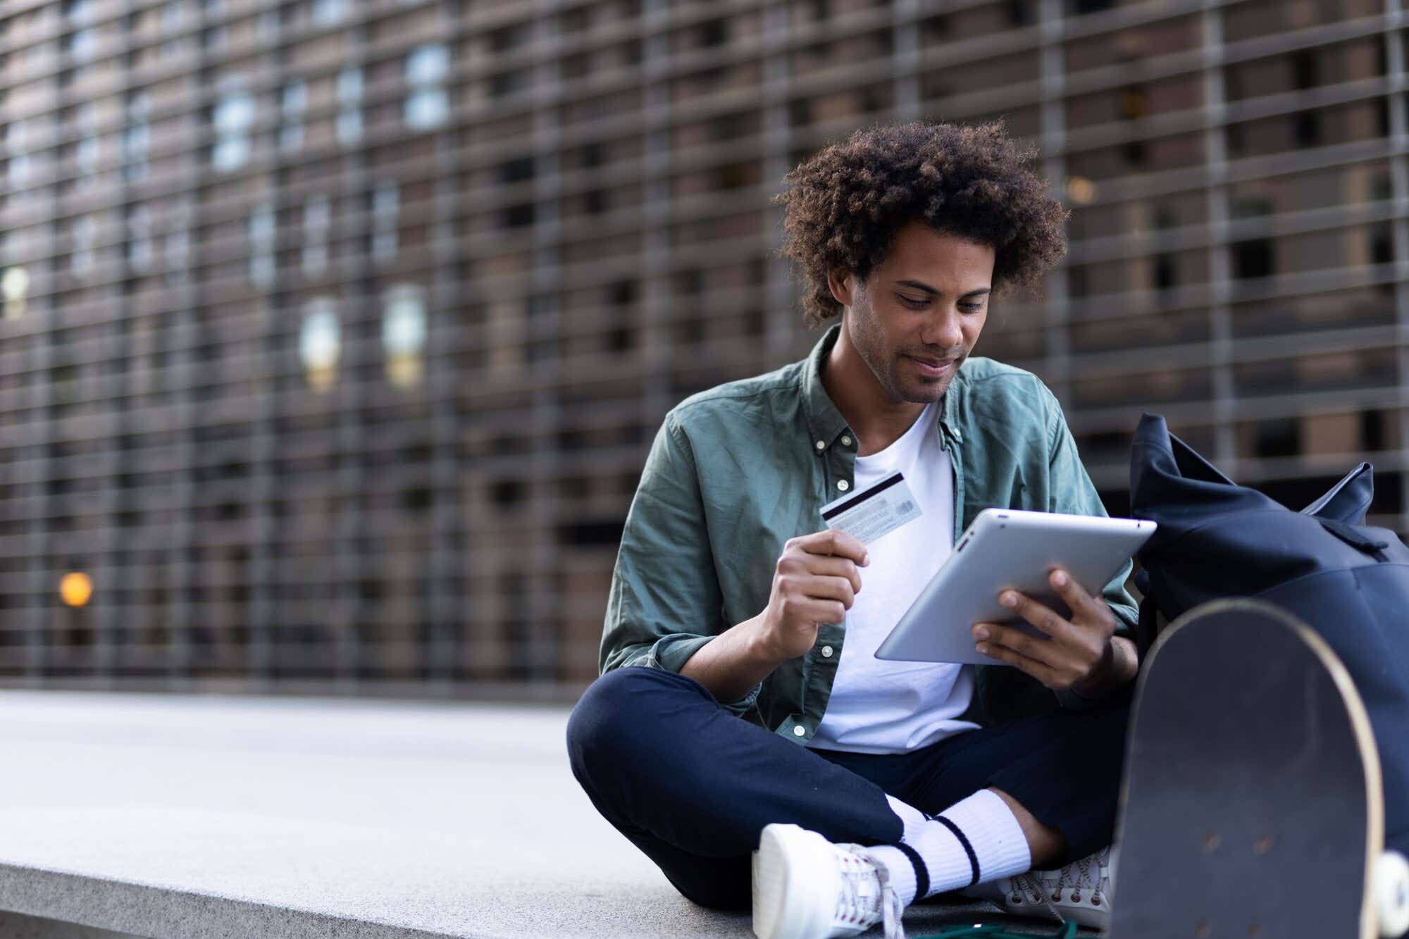
[[[568,768],[566,719],[0,689],[0,935],[750,936],[747,914],[686,901],[602,821]],[[906,928],[992,911],[917,905]]]

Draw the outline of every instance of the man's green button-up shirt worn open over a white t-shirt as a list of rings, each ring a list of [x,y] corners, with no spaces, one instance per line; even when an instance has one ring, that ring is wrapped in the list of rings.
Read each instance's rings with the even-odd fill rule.
[[[665,416],[621,534],[603,673],[679,671],[710,639],[762,612],[788,539],[824,527],[820,509],[843,495],[841,481],[850,491],[857,458],[857,437],[821,383],[838,333],[840,326],[828,329],[800,362],[700,392]],[[938,423],[954,468],[954,529],[936,530],[936,539],[952,547],[989,506],[1106,515],[1057,398],[1031,372],[968,358],[944,393]],[[1110,579],[1105,599],[1117,634],[1133,636],[1129,572],[1127,564]],[[845,642],[845,622],[821,625],[807,654],[724,706],[806,743],[827,711]],[[824,646],[837,654],[823,656]],[[1089,705],[1017,668],[965,667],[975,668],[967,720]]]

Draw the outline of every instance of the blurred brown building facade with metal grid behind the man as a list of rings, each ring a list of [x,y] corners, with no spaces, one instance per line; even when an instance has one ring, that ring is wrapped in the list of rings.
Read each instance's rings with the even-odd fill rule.
[[[685,395],[802,357],[876,121],[1072,209],[976,352],[1409,530],[1401,0],[0,3],[0,685],[571,699]]]

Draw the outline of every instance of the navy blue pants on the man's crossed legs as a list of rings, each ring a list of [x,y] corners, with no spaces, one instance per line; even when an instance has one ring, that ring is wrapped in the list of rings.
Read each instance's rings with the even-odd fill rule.
[[[750,854],[772,822],[833,842],[888,845],[886,794],[934,815],[985,787],[1061,832],[1061,863],[1112,840],[1130,695],[954,735],[900,754],[799,746],[743,720],[693,678],[609,671],[568,720],[572,773],[592,804],[689,900],[747,909]]]

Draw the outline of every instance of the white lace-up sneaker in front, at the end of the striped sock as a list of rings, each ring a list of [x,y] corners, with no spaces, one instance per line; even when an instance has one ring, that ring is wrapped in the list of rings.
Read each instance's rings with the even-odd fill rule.
[[[878,922],[903,939],[900,898],[861,845],[833,845],[797,825],[768,825],[754,852],[754,935],[855,936]]]

